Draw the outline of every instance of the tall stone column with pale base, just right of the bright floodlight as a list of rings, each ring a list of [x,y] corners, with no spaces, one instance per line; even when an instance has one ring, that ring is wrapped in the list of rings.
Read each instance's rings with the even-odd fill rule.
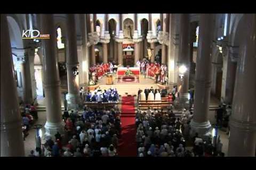
[[[209,135],[209,104],[211,91],[211,14],[201,14],[199,23],[199,46],[196,60],[194,116],[191,133]]]

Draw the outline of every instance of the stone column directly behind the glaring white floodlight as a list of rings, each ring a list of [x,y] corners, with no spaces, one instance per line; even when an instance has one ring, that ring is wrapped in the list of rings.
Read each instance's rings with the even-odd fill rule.
[[[180,14],[180,42],[179,42],[179,67],[184,65],[187,71],[179,81],[179,107],[188,107],[189,83],[189,14]]]

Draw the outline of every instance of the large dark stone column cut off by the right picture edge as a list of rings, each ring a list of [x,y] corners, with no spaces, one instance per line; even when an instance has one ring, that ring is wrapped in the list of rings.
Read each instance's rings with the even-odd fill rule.
[[[255,156],[256,143],[256,14],[244,14],[235,93],[230,118],[228,156]]]

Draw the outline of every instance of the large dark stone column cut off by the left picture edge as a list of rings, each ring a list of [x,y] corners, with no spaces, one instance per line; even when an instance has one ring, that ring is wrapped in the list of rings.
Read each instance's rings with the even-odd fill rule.
[[[25,156],[7,19],[1,14],[1,157]]]

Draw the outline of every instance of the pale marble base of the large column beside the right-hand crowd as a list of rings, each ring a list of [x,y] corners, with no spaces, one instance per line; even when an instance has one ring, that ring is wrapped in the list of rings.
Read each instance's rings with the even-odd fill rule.
[[[190,137],[193,137],[195,133],[198,133],[199,137],[203,139],[207,139],[209,135],[211,135],[211,124],[209,121],[197,123],[194,120],[190,122],[191,130],[190,130]]]

